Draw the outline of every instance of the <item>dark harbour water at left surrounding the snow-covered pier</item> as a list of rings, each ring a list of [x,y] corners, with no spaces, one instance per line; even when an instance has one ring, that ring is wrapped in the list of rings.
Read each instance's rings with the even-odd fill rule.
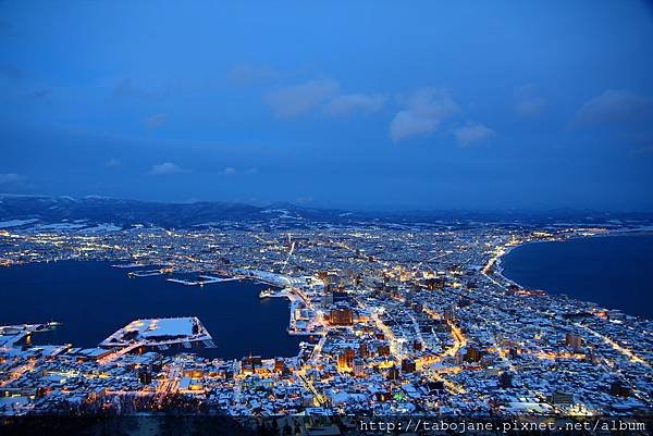
[[[299,351],[301,338],[286,333],[288,301],[259,299],[266,285],[185,286],[167,276],[128,278],[135,270],[110,265],[65,261],[0,267],[0,325],[59,321],[63,326],[34,335],[33,342],[94,347],[135,319],[197,316],[218,346],[193,350],[201,356],[271,358]]]

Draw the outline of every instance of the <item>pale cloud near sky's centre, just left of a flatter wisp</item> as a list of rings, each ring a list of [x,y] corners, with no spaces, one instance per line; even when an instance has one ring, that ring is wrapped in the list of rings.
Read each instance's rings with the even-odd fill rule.
[[[289,119],[305,114],[334,96],[340,86],[329,78],[319,78],[293,85],[266,95],[264,101],[275,115]]]

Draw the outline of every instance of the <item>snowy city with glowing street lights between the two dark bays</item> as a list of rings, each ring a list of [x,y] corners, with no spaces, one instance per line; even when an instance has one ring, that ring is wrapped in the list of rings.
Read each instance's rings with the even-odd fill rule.
[[[4,229],[4,265],[109,259],[130,271],[164,265],[161,274],[269,283],[280,290],[262,298],[287,298],[288,334],[306,341],[297,356],[222,360],[145,342],[151,323],[167,328],[171,344],[219,334],[188,331],[195,324],[187,322],[135,320],[114,342],[90,349],[29,345],[51,325],[4,326],[0,414],[650,413],[653,323],[523,289],[501,274],[501,256],[515,246],[601,232],[483,224]]]

